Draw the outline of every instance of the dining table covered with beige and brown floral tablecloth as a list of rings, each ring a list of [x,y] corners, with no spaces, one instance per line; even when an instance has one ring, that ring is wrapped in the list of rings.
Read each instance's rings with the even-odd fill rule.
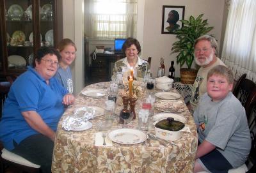
[[[110,145],[96,145],[97,142],[95,141],[95,134],[102,132],[100,126],[106,125],[107,121],[104,115],[90,119],[92,127],[87,130],[74,131],[63,128],[63,119],[72,116],[77,108],[99,107],[105,109],[108,94],[94,97],[86,96],[83,93],[90,89],[100,89],[108,93],[109,84],[110,82],[100,82],[84,87],[77,94],[74,104],[70,105],[63,113],[58,123],[54,141],[52,172],[193,172],[198,137],[195,121],[182,97],[177,100],[184,104],[184,110],[174,114],[186,119],[185,126],[189,131],[180,132],[181,137],[178,140],[163,140],[154,135],[153,119],[154,116],[161,113],[157,109],[154,109],[154,116],[149,118],[148,130],[143,131],[147,134],[147,139],[143,142],[122,144],[122,142],[109,140],[109,133],[124,129],[124,124],[118,121],[118,116],[123,108],[120,89],[115,103],[116,119],[111,121],[110,126],[106,129],[106,139],[108,143],[110,141]],[[150,94],[157,92],[159,92],[157,89],[153,89]],[[175,89],[168,92],[179,94]],[[138,112],[141,109],[141,101],[147,95],[146,93],[147,91],[144,92],[143,96],[137,98],[135,104],[136,119],[126,124],[125,128],[139,130]],[[157,100],[159,98],[156,98],[156,102]]]

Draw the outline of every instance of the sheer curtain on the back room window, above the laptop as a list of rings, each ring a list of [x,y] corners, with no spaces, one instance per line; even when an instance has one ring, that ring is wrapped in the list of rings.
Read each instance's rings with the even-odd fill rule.
[[[137,0],[89,1],[90,38],[113,40],[136,37]]]

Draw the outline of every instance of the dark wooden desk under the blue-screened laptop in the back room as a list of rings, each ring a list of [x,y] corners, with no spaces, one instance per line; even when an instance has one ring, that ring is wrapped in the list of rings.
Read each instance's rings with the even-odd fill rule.
[[[113,64],[122,59],[124,54],[100,54],[97,53],[96,57],[92,57],[92,72],[90,79],[92,83],[107,82],[111,80]]]

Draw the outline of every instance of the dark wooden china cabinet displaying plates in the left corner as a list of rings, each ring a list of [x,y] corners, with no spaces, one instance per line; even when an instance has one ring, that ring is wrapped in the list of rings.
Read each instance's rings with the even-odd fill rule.
[[[57,40],[56,0],[0,0],[0,76],[19,75]]]

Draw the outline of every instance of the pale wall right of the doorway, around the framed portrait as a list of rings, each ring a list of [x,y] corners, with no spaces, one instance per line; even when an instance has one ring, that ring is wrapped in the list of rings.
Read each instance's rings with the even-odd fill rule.
[[[157,75],[160,57],[164,57],[166,66],[165,75],[168,75],[170,61],[175,61],[175,76],[180,76],[179,65],[176,64],[175,55],[170,55],[172,43],[176,41],[175,34],[161,34],[163,5],[185,6],[185,19],[190,15],[197,17],[204,13],[203,19],[208,19],[209,26],[214,29],[209,34],[214,34],[217,40],[221,40],[221,27],[223,21],[223,0],[147,0],[145,1],[144,26],[138,28],[143,30],[143,57],[151,56],[151,71],[153,77]],[[140,21],[138,21],[140,23]]]

